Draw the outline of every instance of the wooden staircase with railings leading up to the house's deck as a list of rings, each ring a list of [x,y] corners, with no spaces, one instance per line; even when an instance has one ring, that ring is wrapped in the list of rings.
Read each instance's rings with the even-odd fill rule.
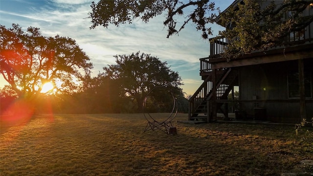
[[[215,89],[214,82],[216,82]],[[238,82],[238,72],[235,69],[223,68],[211,71],[189,99],[188,120],[209,122],[212,119],[213,109],[216,112],[223,105],[223,103],[217,104],[215,100],[227,100],[236,82]]]

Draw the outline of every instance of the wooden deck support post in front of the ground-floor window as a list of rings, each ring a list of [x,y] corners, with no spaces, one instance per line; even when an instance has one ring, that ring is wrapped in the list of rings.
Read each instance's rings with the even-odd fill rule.
[[[300,121],[302,121],[302,119],[306,119],[303,59],[298,60],[298,71],[299,71],[299,93],[300,93],[300,97],[299,97],[300,98]]]

